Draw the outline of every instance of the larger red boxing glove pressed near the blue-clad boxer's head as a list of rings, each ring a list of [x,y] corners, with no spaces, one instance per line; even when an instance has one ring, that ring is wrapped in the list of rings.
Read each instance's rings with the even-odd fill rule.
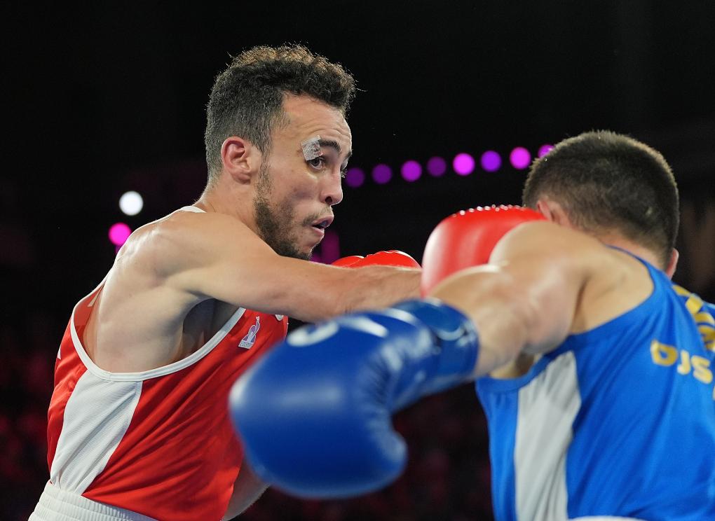
[[[518,224],[543,219],[532,209],[511,205],[470,208],[443,219],[425,246],[423,296],[460,269],[489,262],[496,243]]]

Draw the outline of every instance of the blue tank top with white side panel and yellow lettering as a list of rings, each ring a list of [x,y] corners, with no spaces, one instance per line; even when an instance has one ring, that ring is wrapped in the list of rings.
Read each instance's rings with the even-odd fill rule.
[[[641,262],[638,307],[476,382],[497,520],[715,520],[714,309]]]

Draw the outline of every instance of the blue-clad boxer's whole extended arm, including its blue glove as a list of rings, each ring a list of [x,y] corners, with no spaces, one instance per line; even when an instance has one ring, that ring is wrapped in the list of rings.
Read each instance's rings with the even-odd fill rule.
[[[432,260],[452,262],[451,253]],[[521,224],[503,236],[489,266],[433,287],[437,298],[302,327],[260,359],[230,399],[247,457],[265,480],[296,495],[376,490],[406,460],[391,413],[626,312],[651,291],[646,279],[640,262],[585,234]]]

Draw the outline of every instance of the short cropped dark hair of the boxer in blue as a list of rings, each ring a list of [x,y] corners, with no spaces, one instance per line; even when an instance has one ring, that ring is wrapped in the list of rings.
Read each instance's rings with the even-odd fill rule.
[[[523,204],[561,204],[585,232],[617,231],[668,265],[679,224],[678,187],[663,156],[615,132],[584,132],[558,143],[531,165]]]

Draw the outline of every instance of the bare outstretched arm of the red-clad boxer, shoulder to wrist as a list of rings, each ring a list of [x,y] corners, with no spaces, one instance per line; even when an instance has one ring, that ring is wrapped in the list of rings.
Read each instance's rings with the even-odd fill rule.
[[[167,283],[183,292],[309,322],[419,294],[418,269],[347,269],[281,257],[232,217],[181,219],[162,223],[154,240]]]

